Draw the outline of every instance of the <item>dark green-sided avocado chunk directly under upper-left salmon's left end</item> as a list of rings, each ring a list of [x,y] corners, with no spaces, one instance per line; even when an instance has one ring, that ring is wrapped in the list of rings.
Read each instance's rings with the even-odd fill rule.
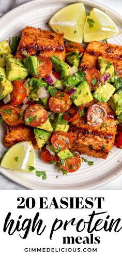
[[[28,56],[23,59],[23,64],[32,76],[38,74],[38,58],[36,56]]]

